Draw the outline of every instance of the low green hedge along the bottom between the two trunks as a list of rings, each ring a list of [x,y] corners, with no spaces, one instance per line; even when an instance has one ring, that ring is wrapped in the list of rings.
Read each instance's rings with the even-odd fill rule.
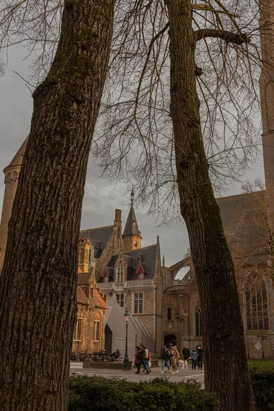
[[[215,395],[199,384],[169,382],[129,382],[86,375],[72,377],[69,411],[219,411]]]

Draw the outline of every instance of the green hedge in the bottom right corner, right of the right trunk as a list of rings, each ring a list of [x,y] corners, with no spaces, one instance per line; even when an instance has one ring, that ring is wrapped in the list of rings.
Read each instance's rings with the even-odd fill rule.
[[[258,410],[274,410],[274,361],[249,366]]]

